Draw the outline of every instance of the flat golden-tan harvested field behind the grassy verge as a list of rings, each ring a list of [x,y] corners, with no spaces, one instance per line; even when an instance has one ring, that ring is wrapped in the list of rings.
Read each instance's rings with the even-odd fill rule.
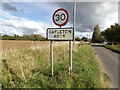
[[[24,49],[24,48],[39,48],[43,49],[49,47],[49,41],[15,41],[15,40],[1,40],[2,42],[2,50],[17,50],[17,49]],[[58,45],[65,45],[65,42],[54,42],[54,46]]]

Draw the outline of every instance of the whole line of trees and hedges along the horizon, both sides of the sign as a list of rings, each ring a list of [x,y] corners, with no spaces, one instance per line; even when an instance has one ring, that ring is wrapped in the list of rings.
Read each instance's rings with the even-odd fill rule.
[[[14,34],[14,36],[9,35],[0,35],[1,40],[30,40],[30,41],[45,41],[46,38],[42,37],[40,34],[30,34],[30,35],[23,35],[19,36]],[[80,39],[79,37],[75,37],[76,41],[89,41],[88,38],[83,37]],[[115,23],[111,25],[104,31],[100,31],[99,25],[96,25],[94,28],[94,32],[92,35],[93,43],[102,43],[102,42],[111,42],[112,44],[120,44],[120,25]]]

